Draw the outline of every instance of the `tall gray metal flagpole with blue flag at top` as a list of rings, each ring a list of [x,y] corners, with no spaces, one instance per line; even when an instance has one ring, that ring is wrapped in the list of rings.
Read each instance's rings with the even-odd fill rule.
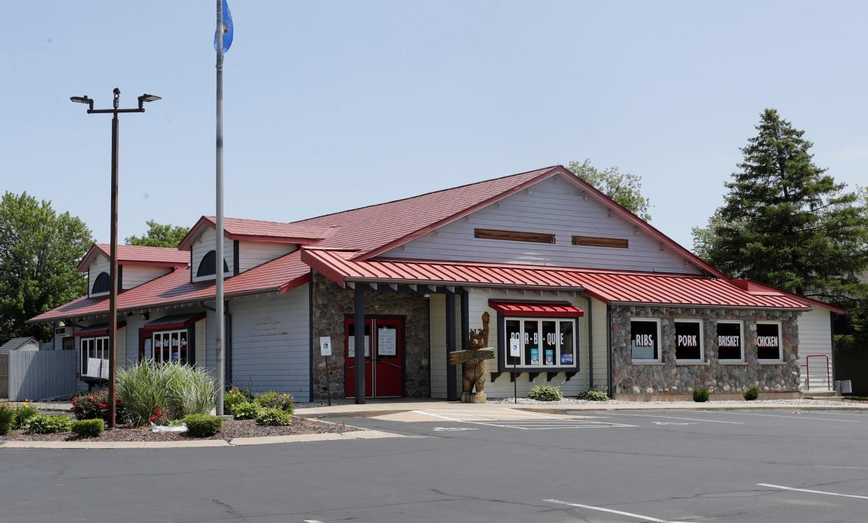
[[[226,367],[223,363],[223,336],[226,332],[223,316],[223,0],[217,0],[217,230],[214,267],[215,316],[217,317],[217,415],[223,415],[223,389]],[[238,263],[238,260],[233,260]]]

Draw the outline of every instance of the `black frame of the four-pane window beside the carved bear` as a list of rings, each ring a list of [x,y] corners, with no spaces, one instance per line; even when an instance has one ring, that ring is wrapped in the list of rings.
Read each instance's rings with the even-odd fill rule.
[[[579,372],[579,348],[581,347],[581,343],[579,341],[579,322],[577,317],[529,317],[529,316],[507,316],[502,313],[497,314],[497,324],[498,324],[498,336],[497,336],[497,367],[500,372],[513,372],[521,373],[521,372]],[[519,322],[518,332],[519,337],[522,340],[522,350],[521,355],[519,356],[519,363],[513,367],[511,364],[507,363],[509,356],[509,342],[506,335],[506,322],[508,321],[517,321]],[[537,343],[537,349],[540,350],[538,365],[530,365],[525,364],[525,344],[523,342],[524,339],[524,324],[526,322],[533,322],[537,324],[537,329],[539,332],[539,343]],[[545,356],[543,352],[543,343],[542,343],[542,322],[555,322],[555,336],[560,339],[561,333],[561,323],[569,323],[573,325],[573,339],[572,339],[572,349],[573,349],[573,363],[570,365],[562,365],[561,361],[561,344],[557,343],[556,351],[555,351],[555,361],[556,365],[544,365]]]

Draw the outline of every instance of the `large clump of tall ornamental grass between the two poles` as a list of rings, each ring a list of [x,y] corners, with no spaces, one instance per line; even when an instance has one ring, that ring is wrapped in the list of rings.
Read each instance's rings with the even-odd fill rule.
[[[164,422],[211,412],[217,402],[214,386],[207,370],[182,363],[144,361],[117,374],[117,394],[127,420],[137,427],[152,416]]]

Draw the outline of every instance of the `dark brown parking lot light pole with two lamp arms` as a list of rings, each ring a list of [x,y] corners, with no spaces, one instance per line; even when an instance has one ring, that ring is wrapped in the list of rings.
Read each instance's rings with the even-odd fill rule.
[[[95,109],[94,101],[85,96],[70,96],[69,100],[88,104],[88,114],[111,114],[111,287],[109,288],[109,428],[115,428],[115,366],[117,363],[117,151],[118,120],[120,113],[144,113],[146,101],[160,100],[160,96],[139,96],[139,107],[122,109],[121,89],[115,88],[115,101],[110,109]]]

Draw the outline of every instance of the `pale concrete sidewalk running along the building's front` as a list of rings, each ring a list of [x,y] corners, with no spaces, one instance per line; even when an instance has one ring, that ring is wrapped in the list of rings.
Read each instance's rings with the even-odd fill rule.
[[[335,404],[331,407],[311,407],[295,409],[295,415],[306,418],[344,418],[344,417],[374,417],[380,415],[399,414],[413,410],[485,410],[485,409],[520,409],[530,412],[548,414],[565,414],[576,411],[599,410],[734,410],[734,409],[764,409],[764,410],[857,410],[868,414],[868,403],[857,402],[820,402],[813,400],[794,400],[783,402],[771,400],[763,402],[587,402],[587,403],[462,403],[445,400],[368,400],[363,405],[355,403]]]

